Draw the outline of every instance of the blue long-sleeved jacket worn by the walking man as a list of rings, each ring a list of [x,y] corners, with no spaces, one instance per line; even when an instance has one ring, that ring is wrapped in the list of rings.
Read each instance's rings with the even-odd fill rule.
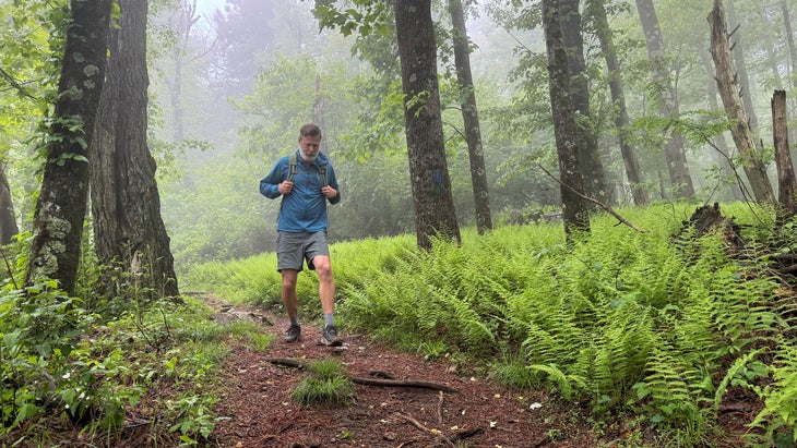
[[[281,196],[279,184],[288,179],[290,171],[289,157],[282,157],[271,172],[260,181],[260,193],[274,199]],[[296,177],[294,178],[294,191],[283,196],[279,205],[276,229],[282,232],[320,232],[326,231],[326,198],[321,194],[323,179],[320,168],[326,166],[326,183],[337,190],[337,196],[330,199],[330,204],[341,202],[341,189],[337,186],[335,170],[329,165],[329,157],[319,153],[316,160],[306,166],[301,160],[299,150],[296,149]]]

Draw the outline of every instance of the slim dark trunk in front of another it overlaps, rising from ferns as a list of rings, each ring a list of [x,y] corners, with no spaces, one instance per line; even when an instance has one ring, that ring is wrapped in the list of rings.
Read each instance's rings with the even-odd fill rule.
[[[543,0],[543,26],[548,52],[548,88],[554,114],[557,155],[559,158],[560,190],[564,234],[569,242],[578,233],[590,231],[590,213],[579,196],[584,181],[579,165],[579,137],[575,113],[568,86],[570,73],[562,43],[557,0]]]

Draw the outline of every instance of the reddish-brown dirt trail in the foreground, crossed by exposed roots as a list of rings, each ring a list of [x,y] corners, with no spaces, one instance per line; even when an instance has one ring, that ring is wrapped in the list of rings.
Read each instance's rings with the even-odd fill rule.
[[[251,315],[250,312],[246,313]],[[255,316],[258,314],[254,314]],[[211,439],[218,447],[594,447],[590,424],[575,410],[552,405],[539,391],[518,392],[463,376],[444,360],[427,361],[342,332],[344,344],[319,343],[320,332],[302,324],[302,339],[282,341],[286,318],[264,315],[276,336],[266,352],[240,350],[226,368],[225,416]],[[354,385],[349,404],[302,407],[292,399],[309,375],[272,362],[334,358],[349,377],[383,372],[396,380],[428,382],[452,388]],[[542,407],[540,407],[542,404]],[[457,445],[459,444],[459,445]]]

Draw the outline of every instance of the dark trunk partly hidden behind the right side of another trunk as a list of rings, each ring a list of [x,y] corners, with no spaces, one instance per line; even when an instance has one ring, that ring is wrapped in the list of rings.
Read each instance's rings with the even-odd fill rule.
[[[590,111],[590,78],[584,62],[584,38],[581,34],[579,0],[559,0],[559,21],[562,44],[568,60],[568,73],[575,130],[579,137],[579,160],[586,193],[604,204],[611,203],[611,192],[606,187],[606,173],[600,161],[597,134]],[[588,204],[587,206],[592,206]]]

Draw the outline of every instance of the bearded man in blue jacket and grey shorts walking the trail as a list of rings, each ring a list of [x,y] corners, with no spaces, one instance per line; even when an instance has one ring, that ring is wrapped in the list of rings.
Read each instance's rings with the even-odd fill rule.
[[[341,193],[329,158],[319,153],[321,130],[305,124],[299,130],[299,148],[277,160],[260,181],[260,193],[271,199],[282,196],[277,217],[277,270],[282,274],[282,300],[290,319],[285,342],[301,339],[296,279],[305,261],[319,277],[319,296],[324,313],[321,342],[337,347],[342,340],[333,325],[335,282],[326,243],[326,202],[337,204]]]

